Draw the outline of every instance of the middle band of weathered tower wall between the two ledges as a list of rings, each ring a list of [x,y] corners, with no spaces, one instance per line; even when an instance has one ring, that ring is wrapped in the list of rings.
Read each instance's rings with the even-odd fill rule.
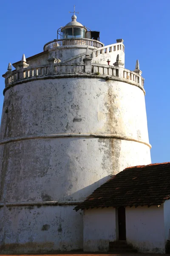
[[[149,161],[146,153],[142,143],[98,138],[1,145],[1,202],[84,200],[110,175]]]

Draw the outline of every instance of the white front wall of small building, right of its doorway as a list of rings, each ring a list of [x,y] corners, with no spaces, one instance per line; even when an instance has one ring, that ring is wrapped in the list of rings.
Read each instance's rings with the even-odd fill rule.
[[[126,239],[142,253],[165,253],[164,208],[126,207]]]

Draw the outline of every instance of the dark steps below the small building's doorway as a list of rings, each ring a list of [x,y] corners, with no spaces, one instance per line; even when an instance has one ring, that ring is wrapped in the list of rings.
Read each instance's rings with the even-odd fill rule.
[[[126,240],[109,242],[109,251],[114,253],[137,253],[132,245],[127,244]]]

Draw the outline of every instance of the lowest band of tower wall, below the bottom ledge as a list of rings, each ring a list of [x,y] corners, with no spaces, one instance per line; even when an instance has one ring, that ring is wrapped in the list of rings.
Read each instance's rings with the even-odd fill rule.
[[[0,208],[0,252],[36,253],[83,247],[83,213],[73,206]]]

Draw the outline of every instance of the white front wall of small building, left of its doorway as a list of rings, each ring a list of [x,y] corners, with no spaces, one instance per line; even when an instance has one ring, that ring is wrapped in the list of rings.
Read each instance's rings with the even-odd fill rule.
[[[116,240],[115,209],[84,210],[83,250],[108,251],[109,242]]]

